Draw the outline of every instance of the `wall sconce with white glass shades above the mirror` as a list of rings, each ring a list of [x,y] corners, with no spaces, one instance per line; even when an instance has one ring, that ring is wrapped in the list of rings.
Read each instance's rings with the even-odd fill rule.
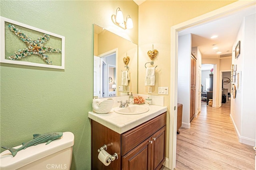
[[[124,21],[124,16],[120,8],[116,9],[116,15],[112,15],[112,21],[114,24],[118,25],[122,29],[133,28],[132,18],[130,15],[126,16],[126,21]]]

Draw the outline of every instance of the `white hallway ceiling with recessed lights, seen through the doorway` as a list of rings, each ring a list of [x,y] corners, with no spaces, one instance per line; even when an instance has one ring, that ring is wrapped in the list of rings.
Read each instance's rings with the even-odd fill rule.
[[[144,1],[134,0],[138,5]],[[200,49],[202,58],[218,59],[220,55],[226,54],[226,56],[229,56],[228,54],[232,54],[233,45],[236,44],[236,36],[244,16],[255,14],[255,12],[255,6],[251,6],[229,16],[184,29],[179,32],[179,36],[191,33],[192,47],[198,47]],[[218,37],[211,39],[210,37],[213,35],[218,35]],[[218,49],[214,50],[213,47],[218,47]],[[221,53],[217,54],[217,51]]]

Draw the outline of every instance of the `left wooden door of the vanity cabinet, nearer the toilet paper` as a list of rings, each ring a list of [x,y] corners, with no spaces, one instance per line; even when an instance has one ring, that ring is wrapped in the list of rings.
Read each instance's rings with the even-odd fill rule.
[[[151,140],[147,139],[122,157],[122,170],[150,170]]]

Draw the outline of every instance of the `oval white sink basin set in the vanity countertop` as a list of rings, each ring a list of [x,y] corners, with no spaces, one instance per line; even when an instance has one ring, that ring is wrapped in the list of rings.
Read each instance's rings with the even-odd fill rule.
[[[114,112],[123,115],[138,115],[149,111],[148,107],[139,105],[130,105],[128,107],[114,109]]]

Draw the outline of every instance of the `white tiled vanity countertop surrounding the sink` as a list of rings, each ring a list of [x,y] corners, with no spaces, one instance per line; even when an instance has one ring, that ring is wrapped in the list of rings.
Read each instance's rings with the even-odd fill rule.
[[[122,134],[167,111],[166,106],[156,106],[156,105],[147,106],[146,104],[142,106],[149,107],[149,111],[147,111],[146,113],[138,114],[138,115],[122,115],[114,112],[114,109],[118,107],[113,107],[111,111],[106,114],[98,114],[98,113],[89,111],[88,117],[108,127],[109,129],[119,134]]]

